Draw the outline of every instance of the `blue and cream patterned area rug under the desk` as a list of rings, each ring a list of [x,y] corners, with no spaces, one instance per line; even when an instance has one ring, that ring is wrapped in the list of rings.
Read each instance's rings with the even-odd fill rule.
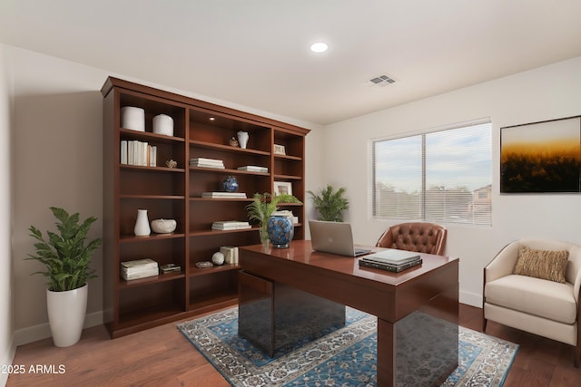
[[[347,307],[346,320],[344,327],[282,348],[272,358],[238,335],[237,307],[178,329],[233,386],[375,386],[377,317]],[[502,386],[517,349],[460,326],[459,366],[442,386]],[[430,366],[438,364],[416,364],[404,385],[422,385]]]

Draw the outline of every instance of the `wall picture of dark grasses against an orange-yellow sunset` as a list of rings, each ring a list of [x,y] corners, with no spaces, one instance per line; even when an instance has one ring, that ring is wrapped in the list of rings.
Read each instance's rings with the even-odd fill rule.
[[[581,192],[581,116],[500,128],[500,193]]]

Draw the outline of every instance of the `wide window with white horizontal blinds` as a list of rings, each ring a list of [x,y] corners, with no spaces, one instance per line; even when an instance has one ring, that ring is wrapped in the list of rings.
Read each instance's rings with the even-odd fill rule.
[[[373,218],[491,225],[490,122],[373,141]]]

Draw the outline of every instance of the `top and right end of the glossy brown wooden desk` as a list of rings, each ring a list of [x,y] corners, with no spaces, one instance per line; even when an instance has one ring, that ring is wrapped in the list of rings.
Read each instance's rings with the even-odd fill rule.
[[[421,256],[421,266],[395,274],[359,268],[358,258],[318,253],[312,250],[310,241],[296,240],[289,248],[241,247],[240,265],[251,276],[377,315],[378,386],[405,381],[406,374],[397,371],[398,363],[409,361],[404,351],[409,345],[409,329],[420,330],[429,338],[421,343],[424,354],[438,356],[443,364],[430,375],[430,384],[438,385],[458,367],[459,260]],[[243,284],[239,291],[244,292]]]

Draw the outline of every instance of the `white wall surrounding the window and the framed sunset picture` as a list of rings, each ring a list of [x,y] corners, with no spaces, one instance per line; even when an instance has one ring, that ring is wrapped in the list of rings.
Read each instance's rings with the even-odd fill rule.
[[[499,194],[500,128],[579,114],[581,57],[329,125],[323,141],[325,176],[331,184],[347,189],[351,202],[347,220],[353,224],[355,241],[373,245],[387,227],[398,222],[370,218],[370,141],[489,117],[493,225],[445,225],[446,254],[460,257],[460,301],[480,306],[482,268],[509,241],[545,237],[581,244],[581,195]]]

